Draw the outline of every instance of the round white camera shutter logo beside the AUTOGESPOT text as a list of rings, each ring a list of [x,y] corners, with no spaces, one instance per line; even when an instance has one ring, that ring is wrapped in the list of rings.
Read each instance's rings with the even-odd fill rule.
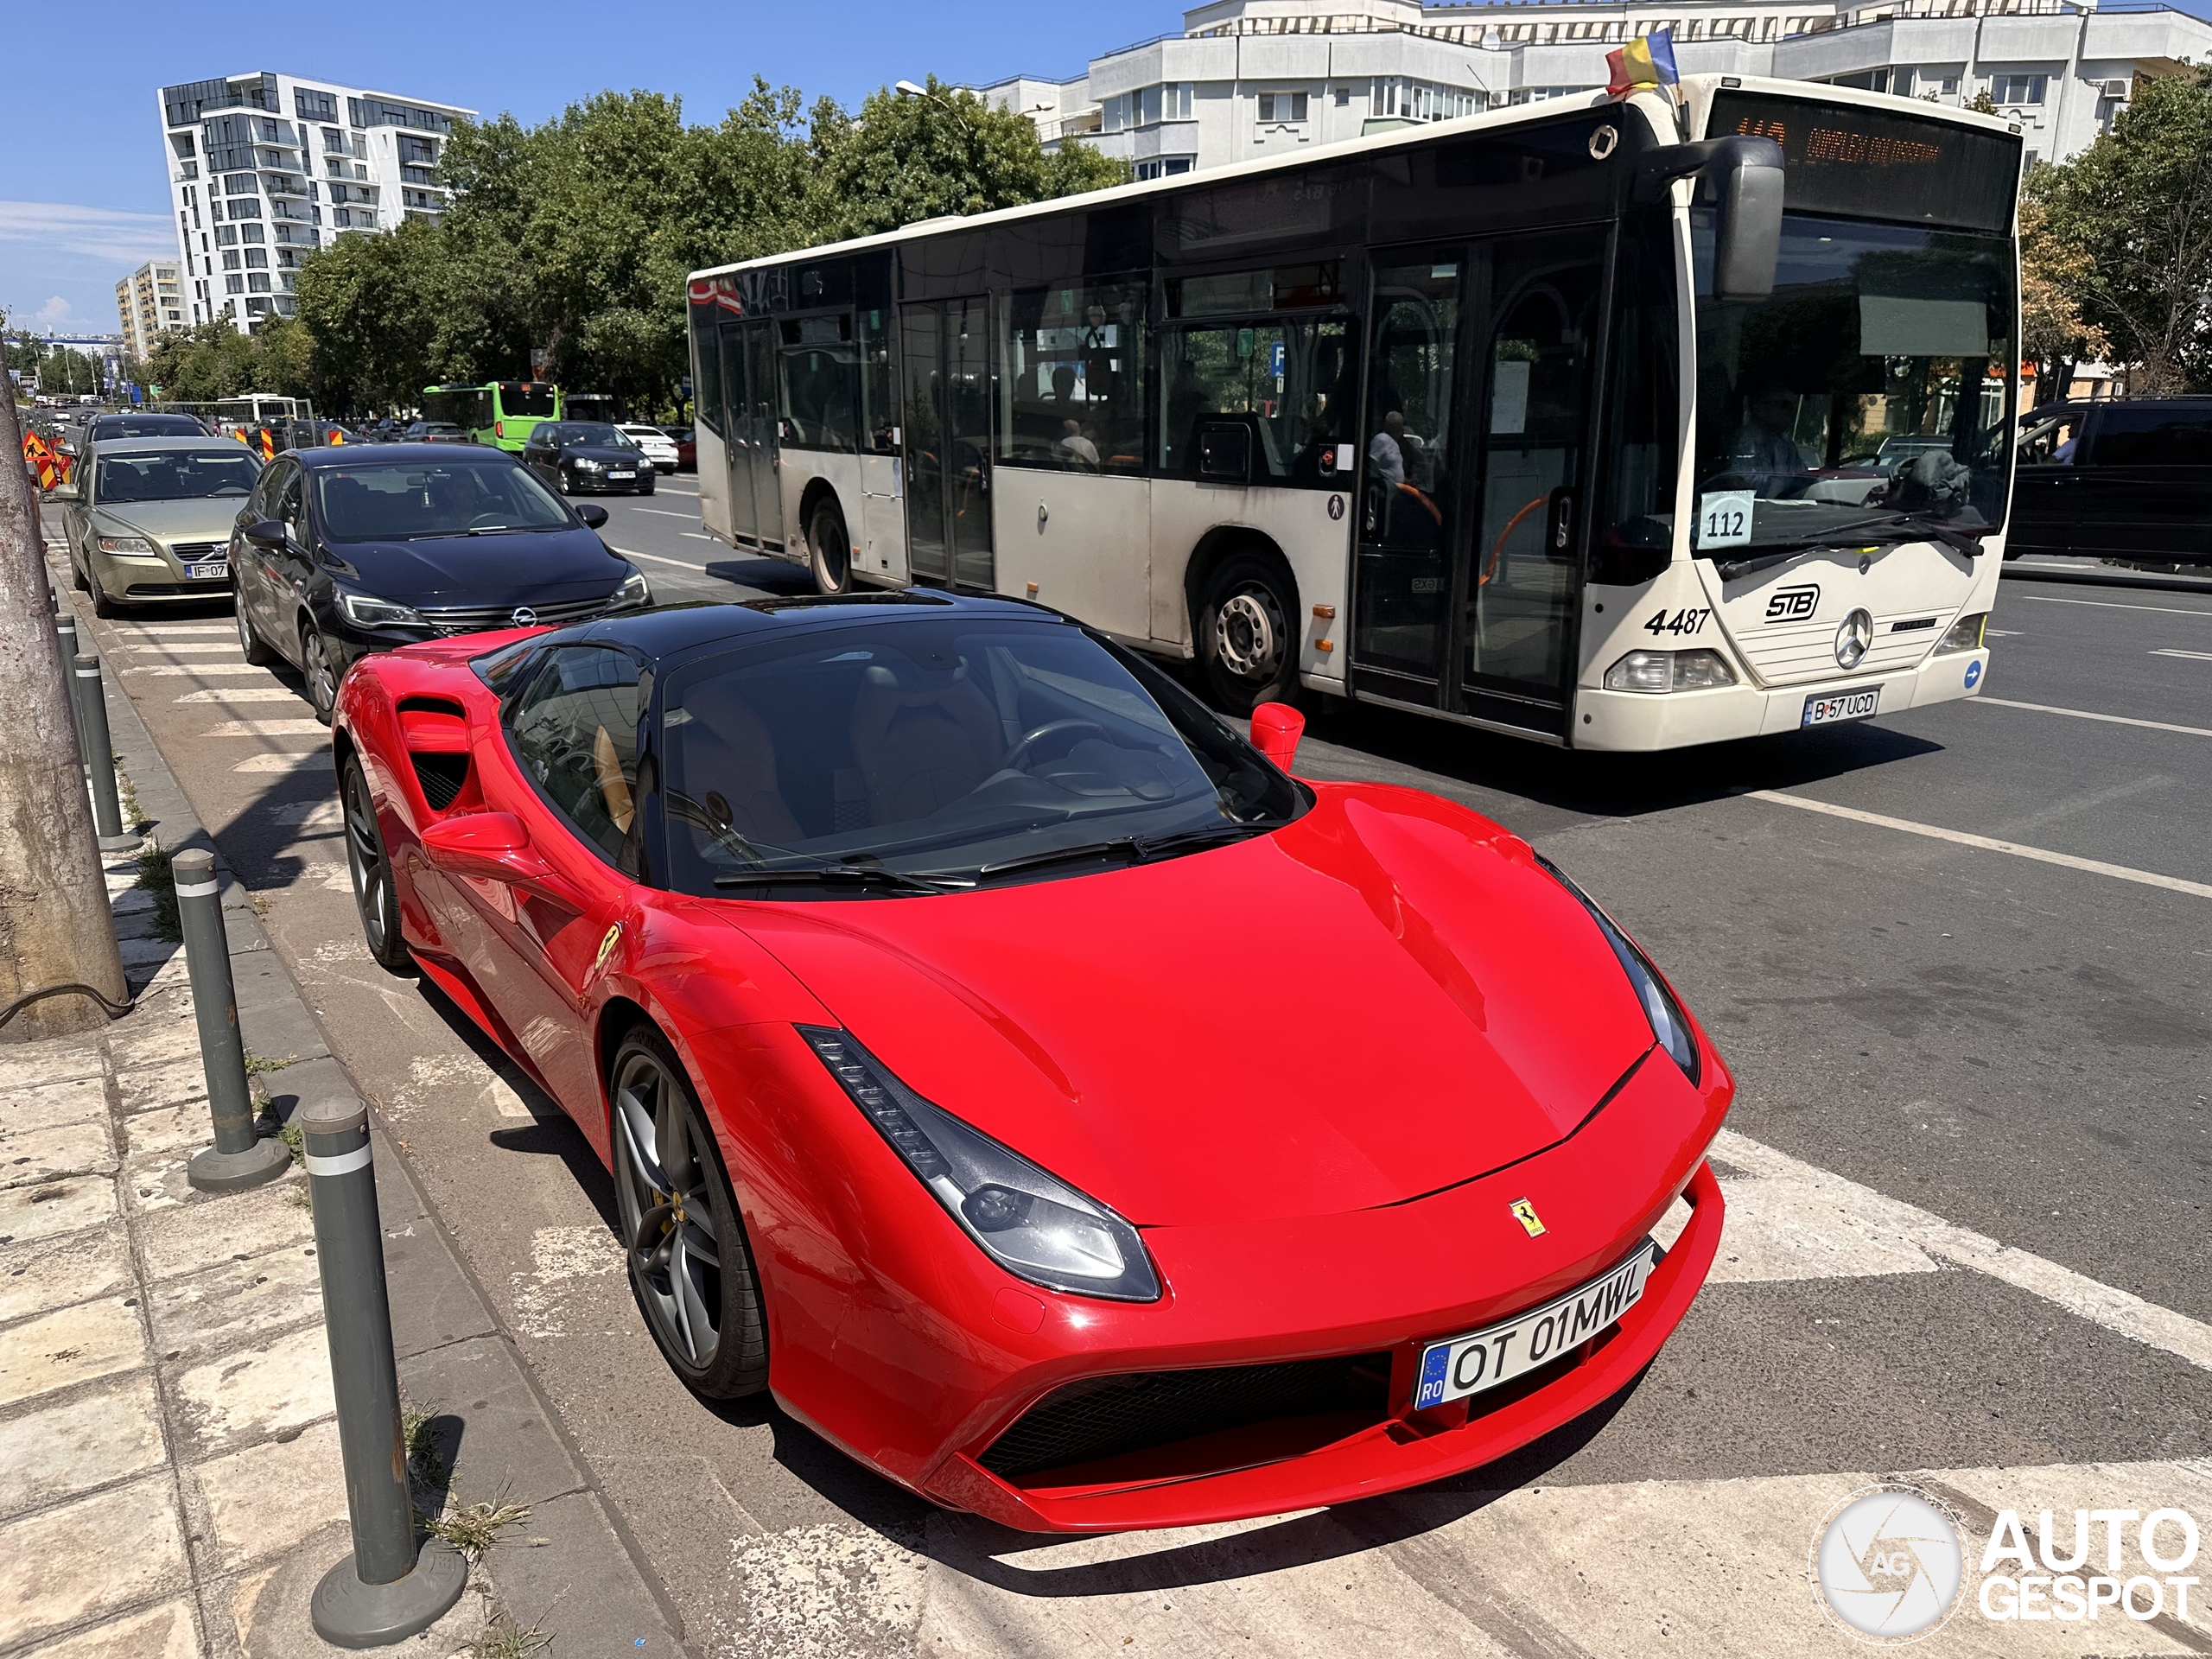
[[[1882,1482],[1845,1498],[1812,1537],[1812,1582],[1827,1615],[1860,1641],[1902,1646],[1958,1608],[1966,1551],[1929,1493]]]

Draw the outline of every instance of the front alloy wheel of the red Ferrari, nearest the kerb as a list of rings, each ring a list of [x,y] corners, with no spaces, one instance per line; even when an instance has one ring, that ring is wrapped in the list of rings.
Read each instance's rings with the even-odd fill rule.
[[[608,1077],[630,1290],[675,1374],[710,1400],[768,1387],[768,1327],[737,1199],[675,1051],[650,1026]]]

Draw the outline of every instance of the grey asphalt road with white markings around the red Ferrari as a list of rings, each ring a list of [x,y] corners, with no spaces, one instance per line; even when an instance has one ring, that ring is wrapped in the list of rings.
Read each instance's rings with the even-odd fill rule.
[[[611,502],[664,599],[807,588],[690,487]],[[1668,967],[1741,1082],[1721,1263],[1635,1389],[1504,1467],[1051,1546],[677,1387],[582,1137],[363,951],[296,681],[221,613],[95,633],[701,1652],[1836,1652],[1805,1548],[1867,1478],[1944,1471],[1984,1524],[2212,1513],[2212,595],[2008,580],[1980,699],[1699,752],[1321,714],[1298,770],[1475,805]],[[1230,918],[1179,949],[1230,1004],[1281,971]],[[2212,1650],[2190,1615],[1924,1650]]]

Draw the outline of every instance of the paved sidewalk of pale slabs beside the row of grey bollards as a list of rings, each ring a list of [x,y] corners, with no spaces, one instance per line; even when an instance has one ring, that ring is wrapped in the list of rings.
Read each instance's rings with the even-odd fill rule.
[[[113,679],[108,719],[148,843],[212,849]],[[186,1183],[212,1137],[206,1079],[181,951],[135,874],[128,856],[108,872],[135,1011],[0,1046],[0,1655],[336,1652],[307,1624],[349,1537],[305,1179]],[[354,1091],[248,894],[219,876],[274,1133],[301,1102]],[[422,1418],[418,1504],[462,1533],[509,1511],[453,1613],[394,1652],[681,1652],[447,1230],[380,1130],[374,1144],[400,1389]]]

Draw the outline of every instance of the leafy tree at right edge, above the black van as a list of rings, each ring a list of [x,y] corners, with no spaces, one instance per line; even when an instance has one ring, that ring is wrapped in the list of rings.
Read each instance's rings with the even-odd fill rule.
[[[2079,312],[2132,365],[2128,389],[2212,383],[2212,66],[2137,82],[2039,195],[2048,232],[2088,257]]]

